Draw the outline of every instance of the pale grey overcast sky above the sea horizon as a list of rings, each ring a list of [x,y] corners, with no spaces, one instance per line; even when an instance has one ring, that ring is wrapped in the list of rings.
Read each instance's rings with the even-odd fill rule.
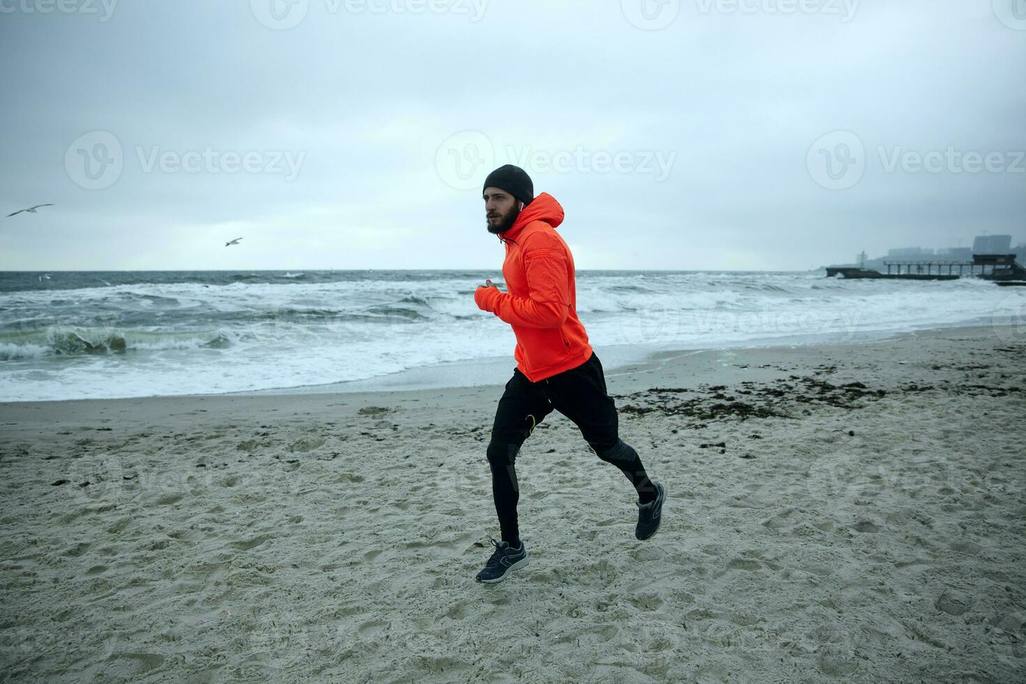
[[[504,163],[578,269],[1026,241],[1026,0],[0,0],[0,58],[2,270],[498,270]]]

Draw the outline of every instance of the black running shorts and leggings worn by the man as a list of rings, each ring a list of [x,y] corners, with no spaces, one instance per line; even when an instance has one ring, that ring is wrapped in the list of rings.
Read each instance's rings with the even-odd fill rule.
[[[581,435],[599,458],[620,469],[634,485],[641,502],[655,498],[656,490],[637,452],[619,437],[617,405],[606,394],[605,376],[597,356],[592,354],[580,366],[538,383],[531,383],[519,369],[514,369],[499,400],[487,452],[496,513],[503,539],[510,544],[519,539],[516,455],[535,426],[553,409],[581,429]]]

